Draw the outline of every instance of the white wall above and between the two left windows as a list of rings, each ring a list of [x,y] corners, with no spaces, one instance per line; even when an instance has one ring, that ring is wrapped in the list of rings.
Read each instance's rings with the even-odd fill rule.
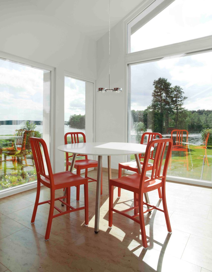
[[[95,40],[27,1],[2,0],[0,51],[56,68],[54,158],[55,171],[63,171],[64,71],[96,79]]]

